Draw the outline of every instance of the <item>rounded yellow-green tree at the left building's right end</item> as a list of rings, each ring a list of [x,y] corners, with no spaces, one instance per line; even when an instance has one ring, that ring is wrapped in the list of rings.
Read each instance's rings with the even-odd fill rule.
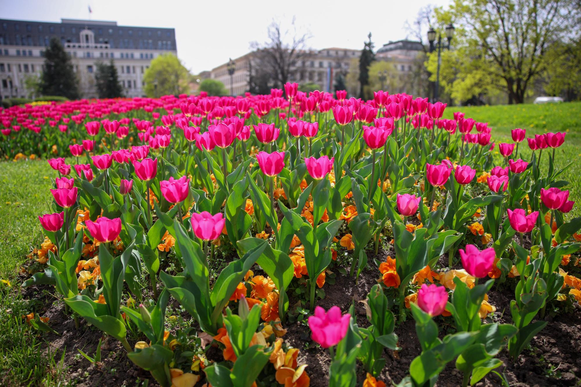
[[[189,71],[172,53],[153,59],[144,74],[148,97],[178,95],[189,91]]]

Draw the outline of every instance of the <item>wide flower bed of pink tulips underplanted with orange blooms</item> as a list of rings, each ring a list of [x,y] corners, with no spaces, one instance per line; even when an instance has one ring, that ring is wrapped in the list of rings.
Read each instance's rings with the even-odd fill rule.
[[[565,133],[495,147],[446,104],[374,95],[2,111],[6,155],[71,160],[48,159],[53,213],[23,283],[61,301],[27,323],[91,332],[95,364],[119,345],[130,377],[162,386],[518,379],[581,299]]]

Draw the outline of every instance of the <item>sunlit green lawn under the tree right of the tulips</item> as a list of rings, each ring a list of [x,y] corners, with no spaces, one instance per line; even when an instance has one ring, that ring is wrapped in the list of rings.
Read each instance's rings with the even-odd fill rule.
[[[555,167],[562,168],[573,161],[573,165],[561,176],[569,182],[569,199],[579,201],[573,206],[569,216],[581,215],[581,102],[558,104],[521,104],[497,106],[465,106],[446,108],[444,118],[453,118],[454,111],[462,111],[465,117],[478,122],[488,122],[492,128],[492,140],[496,143],[512,143],[511,130],[526,129],[526,136],[533,137],[546,132],[566,132],[565,143],[557,149]],[[498,150],[498,148],[496,148]],[[547,151],[542,160],[547,167]],[[539,152],[537,151],[537,157]],[[531,151],[526,140],[519,146],[519,157],[530,160]]]

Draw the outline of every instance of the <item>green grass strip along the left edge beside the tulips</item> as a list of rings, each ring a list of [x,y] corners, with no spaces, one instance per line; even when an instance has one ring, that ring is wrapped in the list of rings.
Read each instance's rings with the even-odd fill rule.
[[[43,239],[38,215],[48,211],[54,171],[46,161],[0,162],[0,385],[55,385],[58,366],[23,314],[38,305],[23,299],[16,281],[21,263]]]

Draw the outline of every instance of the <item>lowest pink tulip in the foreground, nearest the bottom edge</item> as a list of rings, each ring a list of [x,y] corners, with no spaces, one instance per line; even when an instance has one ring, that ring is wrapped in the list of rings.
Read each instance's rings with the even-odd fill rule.
[[[341,316],[339,306],[332,306],[327,313],[325,309],[317,306],[314,316],[309,316],[311,338],[323,348],[337,345],[347,334],[350,319],[349,313]]]

